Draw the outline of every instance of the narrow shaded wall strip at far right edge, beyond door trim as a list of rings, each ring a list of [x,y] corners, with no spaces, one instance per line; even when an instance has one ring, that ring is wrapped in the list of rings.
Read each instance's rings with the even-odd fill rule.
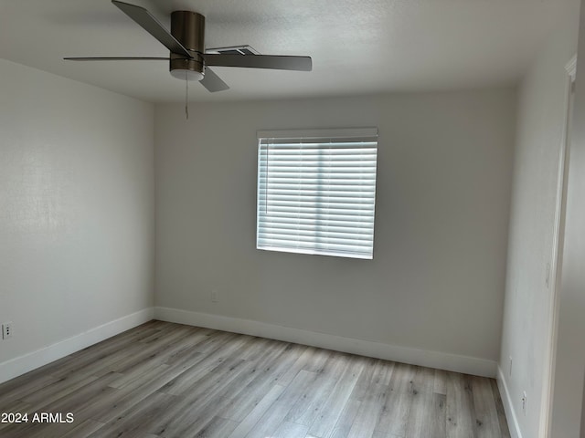
[[[577,438],[585,372],[585,2],[581,1],[574,122],[570,147],[565,251],[558,309],[558,350],[550,436]]]

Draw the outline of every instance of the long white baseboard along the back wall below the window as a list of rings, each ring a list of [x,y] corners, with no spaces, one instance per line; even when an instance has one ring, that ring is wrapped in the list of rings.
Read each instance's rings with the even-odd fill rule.
[[[439,351],[410,349],[381,342],[344,338],[300,328],[282,327],[250,319],[229,318],[177,308],[154,308],[154,318],[190,326],[214,328],[268,339],[296,342],[346,353],[495,378],[497,363]]]

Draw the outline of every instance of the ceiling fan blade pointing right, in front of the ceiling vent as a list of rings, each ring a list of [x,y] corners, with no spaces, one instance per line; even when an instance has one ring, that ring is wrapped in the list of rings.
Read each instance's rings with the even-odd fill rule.
[[[207,66],[274,68],[277,70],[311,71],[311,57],[287,57],[281,55],[231,55],[206,53],[203,55]]]

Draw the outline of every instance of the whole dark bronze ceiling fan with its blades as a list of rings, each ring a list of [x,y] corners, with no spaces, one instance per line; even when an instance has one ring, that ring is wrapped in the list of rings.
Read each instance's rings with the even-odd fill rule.
[[[241,68],[273,68],[278,70],[311,71],[311,57],[280,55],[206,53],[205,16],[190,11],[175,11],[171,14],[171,31],[166,30],[144,7],[112,0],[124,14],[154,36],[171,53],[169,57],[65,57],[72,61],[115,61],[115,60],[168,60],[171,75],[175,78],[198,80],[209,91],[229,89],[209,66]],[[229,48],[229,47],[227,47]]]

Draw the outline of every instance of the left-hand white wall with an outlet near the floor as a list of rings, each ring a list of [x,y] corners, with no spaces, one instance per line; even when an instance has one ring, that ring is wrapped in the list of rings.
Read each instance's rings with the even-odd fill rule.
[[[2,381],[152,307],[154,108],[5,60],[0,77]]]

